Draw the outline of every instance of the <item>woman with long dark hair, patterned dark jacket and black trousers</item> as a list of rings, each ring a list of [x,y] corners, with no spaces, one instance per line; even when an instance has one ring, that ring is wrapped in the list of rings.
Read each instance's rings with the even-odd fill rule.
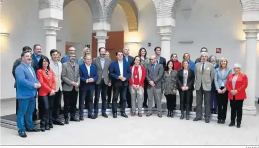
[[[177,90],[177,71],[174,70],[173,61],[168,61],[162,78],[162,91],[166,97],[167,117],[173,118]]]

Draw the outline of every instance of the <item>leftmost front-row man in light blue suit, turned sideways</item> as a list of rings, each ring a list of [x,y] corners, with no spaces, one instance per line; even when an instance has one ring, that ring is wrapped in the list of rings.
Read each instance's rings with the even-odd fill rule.
[[[19,136],[27,137],[24,127],[24,118],[28,132],[39,132],[32,121],[32,113],[35,108],[35,99],[37,97],[37,89],[41,87],[36,73],[31,65],[31,53],[29,51],[21,54],[22,62],[15,69],[15,79],[17,82],[16,98],[19,101],[17,112],[17,127]]]

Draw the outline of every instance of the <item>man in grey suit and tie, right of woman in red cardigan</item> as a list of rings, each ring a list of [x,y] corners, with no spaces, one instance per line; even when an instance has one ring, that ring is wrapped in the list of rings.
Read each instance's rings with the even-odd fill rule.
[[[151,56],[151,65],[147,67],[146,69],[146,78],[148,81],[148,114],[147,117],[152,115],[152,108],[153,108],[153,98],[155,98],[156,101],[156,107],[158,110],[158,117],[162,117],[162,105],[161,105],[161,99],[162,99],[162,81],[161,78],[163,76],[164,68],[163,65],[158,64],[156,62],[156,56]]]

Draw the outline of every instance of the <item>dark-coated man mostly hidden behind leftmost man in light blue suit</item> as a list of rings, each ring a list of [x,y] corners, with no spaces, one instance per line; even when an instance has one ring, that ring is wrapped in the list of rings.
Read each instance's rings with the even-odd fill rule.
[[[22,52],[26,52],[26,51],[29,51],[30,53],[32,52],[32,49],[29,47],[29,46],[24,46],[23,48],[22,48]],[[14,72],[15,72],[15,69],[16,69],[16,67],[18,66],[18,65],[20,65],[21,64],[21,62],[22,62],[22,58],[18,58],[18,59],[16,59],[15,60],[15,62],[13,63],[13,66],[12,66],[12,76],[14,77],[14,79],[15,79],[15,74],[14,74]],[[31,60],[31,65],[33,65],[33,59]],[[15,82],[14,82],[14,88],[15,88],[15,90],[17,91],[17,83],[16,83],[16,79],[15,79]],[[17,110],[18,110],[18,99],[16,99],[16,114],[17,114]],[[36,113],[36,107],[35,107],[35,113]],[[33,118],[33,120],[36,120],[37,119],[37,115],[36,115],[36,117],[35,117],[35,115],[34,115],[34,118]]]

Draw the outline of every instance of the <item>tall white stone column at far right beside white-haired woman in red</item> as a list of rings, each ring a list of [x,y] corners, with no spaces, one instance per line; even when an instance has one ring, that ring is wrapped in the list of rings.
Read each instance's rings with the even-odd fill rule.
[[[246,70],[248,77],[248,87],[246,89],[247,99],[243,104],[243,114],[256,115],[256,77],[257,77],[257,38],[259,22],[244,22],[246,24]]]

